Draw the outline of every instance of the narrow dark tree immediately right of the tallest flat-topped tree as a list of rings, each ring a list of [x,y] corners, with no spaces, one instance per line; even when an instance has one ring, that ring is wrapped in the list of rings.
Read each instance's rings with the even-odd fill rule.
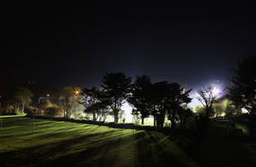
[[[149,91],[151,85],[150,78],[144,75],[137,77],[136,81],[131,85],[131,96],[128,98],[128,102],[135,107],[132,110],[132,114],[140,115],[142,124],[144,124],[144,118],[148,118],[150,115]]]

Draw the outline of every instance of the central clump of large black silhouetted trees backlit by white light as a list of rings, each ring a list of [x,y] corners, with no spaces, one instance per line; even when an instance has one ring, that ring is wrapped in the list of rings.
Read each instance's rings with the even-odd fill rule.
[[[175,128],[177,122],[184,124],[192,114],[186,107],[191,101],[190,91],[185,91],[178,83],[151,83],[144,75],[131,83],[125,73],[107,73],[102,79],[102,89],[83,89],[84,111],[92,112],[94,120],[112,114],[114,123],[118,123],[121,107],[128,101],[133,107],[132,115],[141,118],[142,124],[144,118],[152,115],[154,125],[162,127],[168,118]]]

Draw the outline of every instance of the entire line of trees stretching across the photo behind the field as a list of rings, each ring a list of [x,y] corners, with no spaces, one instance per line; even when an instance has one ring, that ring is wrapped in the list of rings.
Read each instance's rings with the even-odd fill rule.
[[[141,124],[148,117],[154,118],[154,126],[163,128],[165,121],[170,122],[172,129],[185,129],[193,126],[207,127],[212,112],[217,112],[219,101],[227,98],[230,111],[245,108],[248,112],[248,123],[251,134],[255,127],[255,56],[248,56],[239,61],[238,69],[231,78],[231,85],[226,95],[214,95],[213,88],[207,87],[197,91],[203,112],[192,112],[188,107],[191,89],[184,89],[179,83],[160,81],[152,83],[149,76],[137,76],[134,82],[123,72],[106,73],[100,88],[64,87],[34,100],[30,89],[21,87],[12,89],[13,93],[1,96],[1,112],[27,112],[29,116],[71,118],[79,108],[90,115],[93,121],[105,122],[111,115],[114,124],[125,122],[121,107],[128,102],[132,107],[131,114]],[[214,108],[215,107],[215,108]],[[216,109],[217,108],[217,109]],[[230,112],[231,116],[232,113]]]

